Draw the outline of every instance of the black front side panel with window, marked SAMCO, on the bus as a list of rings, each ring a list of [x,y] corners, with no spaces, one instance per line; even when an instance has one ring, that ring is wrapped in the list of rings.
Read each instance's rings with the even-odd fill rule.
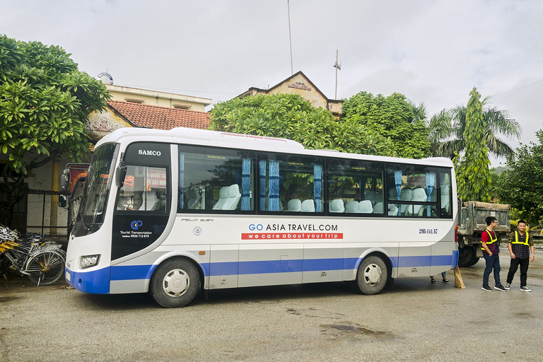
[[[125,153],[124,165],[126,175],[117,191],[113,214],[112,261],[134,255],[153,244],[163,234],[170,218],[170,145],[131,144]]]

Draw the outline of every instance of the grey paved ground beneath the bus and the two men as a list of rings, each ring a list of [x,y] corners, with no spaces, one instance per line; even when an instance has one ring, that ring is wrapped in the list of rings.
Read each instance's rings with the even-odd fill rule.
[[[243,288],[180,309],[12,274],[0,279],[0,361],[541,361],[543,252],[532,293],[518,274],[506,293],[481,291],[483,269],[462,269],[463,290],[426,278],[378,296],[342,283]]]

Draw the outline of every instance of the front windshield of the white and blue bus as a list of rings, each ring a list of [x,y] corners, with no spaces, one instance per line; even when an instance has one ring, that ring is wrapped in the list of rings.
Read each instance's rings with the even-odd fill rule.
[[[80,215],[74,225],[76,236],[94,233],[104,222],[118,148],[118,144],[104,144],[95,150],[88,168]]]

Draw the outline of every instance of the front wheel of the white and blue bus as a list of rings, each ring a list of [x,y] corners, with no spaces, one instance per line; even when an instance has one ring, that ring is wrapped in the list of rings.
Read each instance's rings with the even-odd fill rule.
[[[179,308],[192,302],[200,289],[200,274],[187,259],[170,259],[160,264],[149,285],[153,299],[164,308]]]

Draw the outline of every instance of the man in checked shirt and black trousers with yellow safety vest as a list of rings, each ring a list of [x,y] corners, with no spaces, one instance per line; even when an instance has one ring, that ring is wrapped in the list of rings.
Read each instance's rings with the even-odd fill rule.
[[[507,274],[506,289],[511,287],[513,277],[517,272],[520,264],[520,290],[532,291],[526,286],[526,278],[528,274],[528,266],[535,259],[534,240],[530,238],[530,234],[526,232],[526,221],[519,220],[517,223],[517,231],[509,234],[509,243],[507,247],[511,255],[511,265]]]

